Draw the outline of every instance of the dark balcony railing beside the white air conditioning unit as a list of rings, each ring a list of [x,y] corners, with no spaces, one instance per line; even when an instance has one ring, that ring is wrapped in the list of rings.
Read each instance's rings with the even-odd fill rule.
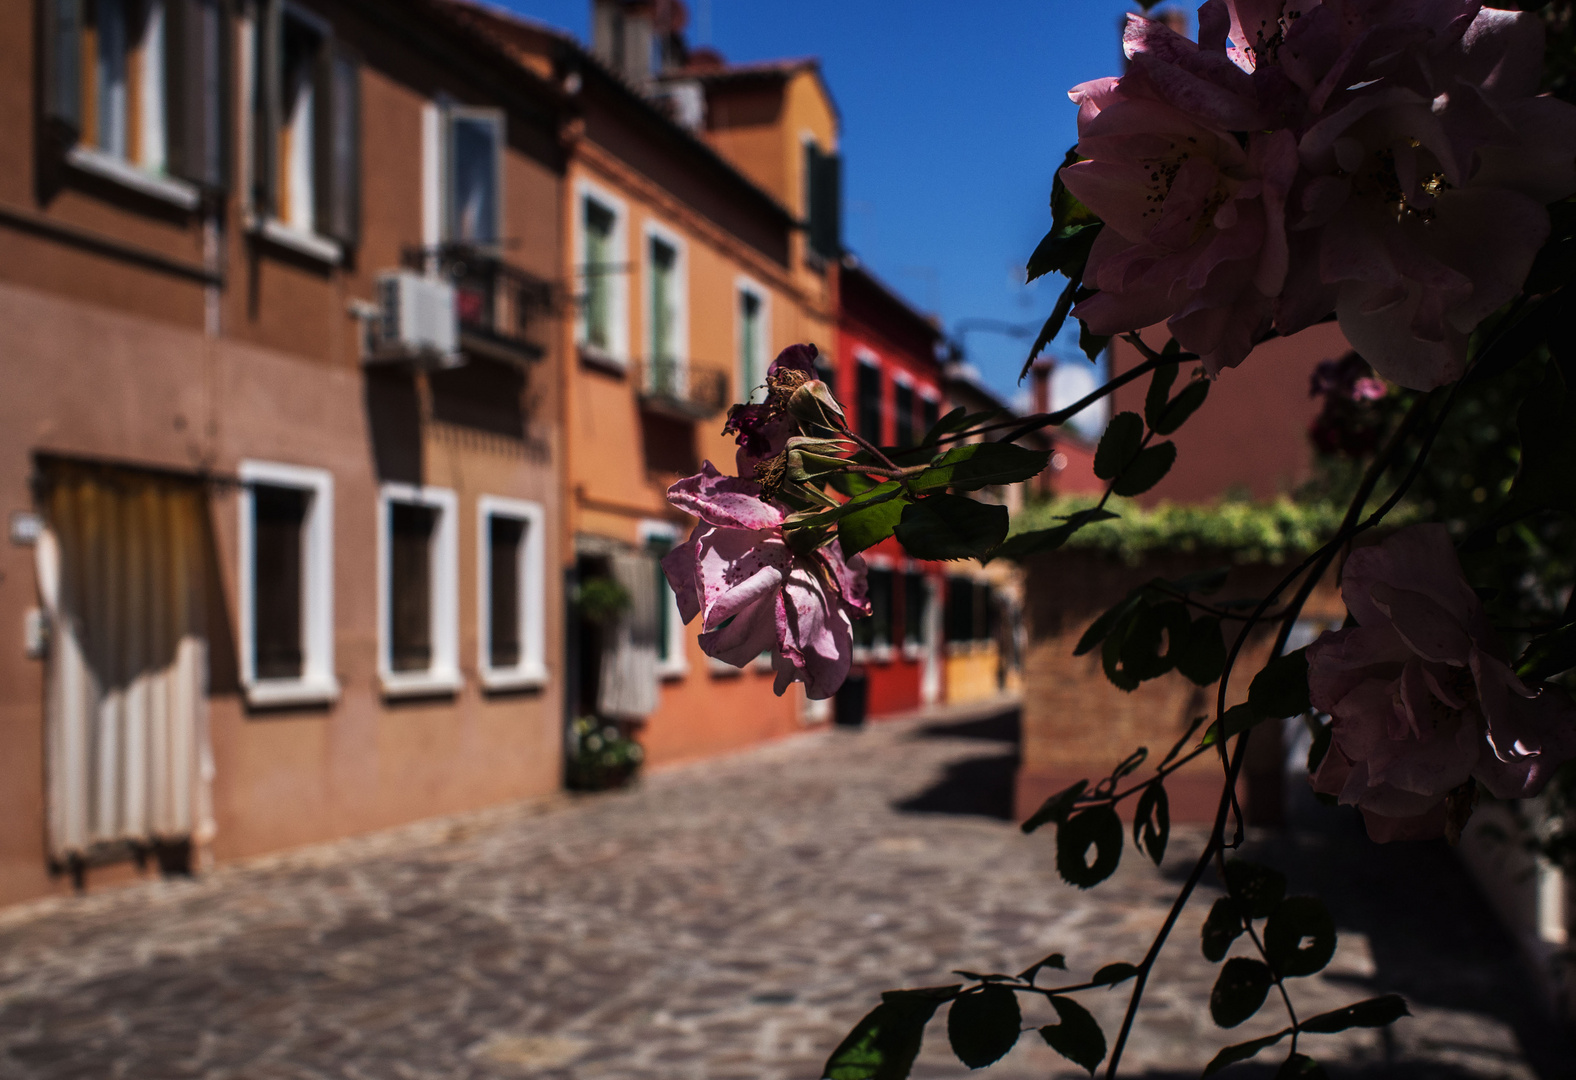
[[[547,355],[553,285],[468,244],[405,251],[405,265],[454,281],[460,348],[506,363]]]

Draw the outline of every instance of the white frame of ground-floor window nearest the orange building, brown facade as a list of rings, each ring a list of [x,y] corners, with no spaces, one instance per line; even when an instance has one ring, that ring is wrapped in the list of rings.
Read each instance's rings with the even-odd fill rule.
[[[520,546],[520,661],[492,665],[492,519],[525,525]],[[476,500],[476,668],[489,691],[520,691],[547,684],[547,511],[541,503],[501,495]]]

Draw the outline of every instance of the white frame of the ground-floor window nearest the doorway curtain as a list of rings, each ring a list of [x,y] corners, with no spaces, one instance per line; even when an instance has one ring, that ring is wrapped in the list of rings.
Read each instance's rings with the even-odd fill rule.
[[[243,460],[236,498],[240,512],[241,689],[247,705],[323,705],[339,697],[334,675],[334,475],[326,468]],[[310,493],[301,523],[301,676],[257,678],[255,566],[257,514],[254,484],[292,487]]]

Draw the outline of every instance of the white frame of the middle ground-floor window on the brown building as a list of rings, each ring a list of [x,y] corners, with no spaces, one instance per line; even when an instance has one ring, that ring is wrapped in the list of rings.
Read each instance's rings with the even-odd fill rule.
[[[389,618],[394,605],[391,512],[394,503],[427,506],[438,511],[432,530],[432,665],[426,672],[394,670],[394,635]],[[378,681],[385,697],[426,697],[452,694],[460,689],[459,645],[459,497],[448,487],[416,487],[414,484],[381,484],[378,487]]]

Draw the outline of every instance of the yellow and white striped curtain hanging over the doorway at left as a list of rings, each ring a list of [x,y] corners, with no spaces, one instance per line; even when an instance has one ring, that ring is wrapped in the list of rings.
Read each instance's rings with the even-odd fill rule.
[[[38,579],[50,618],[49,845],[213,836],[205,582],[195,482],[54,467]]]

